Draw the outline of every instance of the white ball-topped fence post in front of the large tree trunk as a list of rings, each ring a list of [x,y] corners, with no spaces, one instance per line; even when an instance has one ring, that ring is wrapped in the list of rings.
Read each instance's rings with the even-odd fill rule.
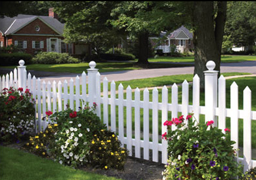
[[[203,71],[205,75],[205,122],[214,121],[214,126],[217,127],[217,118],[215,117],[215,107],[217,107],[217,77],[218,72],[213,70],[215,62],[209,61],[206,63],[208,71]]]

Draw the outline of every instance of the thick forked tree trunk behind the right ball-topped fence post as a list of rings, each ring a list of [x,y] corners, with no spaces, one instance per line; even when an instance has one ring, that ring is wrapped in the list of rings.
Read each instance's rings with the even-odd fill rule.
[[[200,87],[204,88],[205,67],[208,61],[216,64],[215,70],[221,69],[221,46],[223,43],[224,24],[226,22],[226,2],[217,3],[215,16],[213,1],[194,2],[192,22],[194,30],[195,68],[194,75],[200,77]],[[215,18],[216,17],[216,18]]]

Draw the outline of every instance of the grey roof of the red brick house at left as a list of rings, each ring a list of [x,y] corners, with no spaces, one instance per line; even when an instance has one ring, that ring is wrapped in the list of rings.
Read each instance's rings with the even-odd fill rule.
[[[26,26],[30,22],[33,22],[33,20],[36,20],[37,18],[45,22],[45,24],[50,26],[54,31],[62,35],[64,24],[60,23],[55,18],[51,18],[49,16],[34,16],[24,14],[19,14],[18,16],[13,18],[9,18],[6,16],[5,18],[0,18],[0,31],[5,35],[15,33],[20,28]]]

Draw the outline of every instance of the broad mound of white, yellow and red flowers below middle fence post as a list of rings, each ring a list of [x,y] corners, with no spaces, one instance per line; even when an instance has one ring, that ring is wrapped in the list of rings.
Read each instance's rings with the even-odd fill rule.
[[[120,147],[116,135],[107,130],[94,110],[95,107],[85,107],[81,111],[66,109],[54,113],[51,120],[56,123],[30,137],[26,147],[41,156],[53,156],[60,164],[68,166],[88,164],[122,170],[127,150]]]

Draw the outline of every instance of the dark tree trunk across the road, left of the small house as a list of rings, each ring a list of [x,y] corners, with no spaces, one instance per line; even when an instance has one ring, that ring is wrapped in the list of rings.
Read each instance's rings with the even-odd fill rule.
[[[148,32],[139,34],[139,66],[148,67]]]

